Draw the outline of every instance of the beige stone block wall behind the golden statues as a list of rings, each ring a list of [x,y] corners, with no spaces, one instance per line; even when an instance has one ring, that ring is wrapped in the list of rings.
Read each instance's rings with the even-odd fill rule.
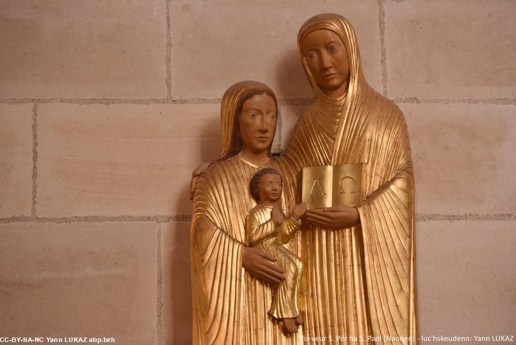
[[[516,2],[3,0],[0,337],[188,343],[220,98],[269,84],[284,148],[312,97],[297,29],[330,11],[408,122],[421,334],[514,335]]]

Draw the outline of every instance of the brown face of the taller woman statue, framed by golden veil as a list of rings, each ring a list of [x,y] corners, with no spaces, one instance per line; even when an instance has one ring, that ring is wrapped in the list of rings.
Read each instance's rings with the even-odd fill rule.
[[[331,30],[318,29],[304,37],[304,59],[325,95],[340,97],[346,92],[349,63],[346,46]]]

